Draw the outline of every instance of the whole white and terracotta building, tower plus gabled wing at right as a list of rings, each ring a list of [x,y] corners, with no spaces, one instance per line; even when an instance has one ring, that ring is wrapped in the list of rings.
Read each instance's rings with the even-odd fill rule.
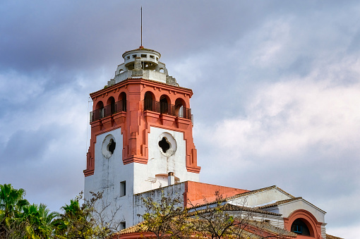
[[[103,192],[112,207],[121,206],[117,216],[128,228],[121,238],[136,237],[131,228],[142,221],[142,198],[165,192],[184,198],[184,207],[200,208],[204,198],[215,201],[215,191],[226,198],[232,214],[252,209],[254,219],[288,231],[287,238],[327,237],[325,212],[276,186],[248,191],[199,183],[192,90],[168,74],[157,51],[139,47],[122,57],[114,79],[90,94],[91,140],[84,170],[85,197]]]

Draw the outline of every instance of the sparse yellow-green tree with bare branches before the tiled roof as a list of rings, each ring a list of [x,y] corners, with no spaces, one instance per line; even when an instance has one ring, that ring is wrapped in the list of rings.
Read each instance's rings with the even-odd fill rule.
[[[166,197],[162,191],[161,199],[152,197],[143,198],[143,223],[140,223],[139,232],[154,233],[160,238],[261,238],[250,235],[244,229],[251,213],[246,215],[230,214],[227,212],[226,200],[219,192],[215,192],[216,203],[198,205],[190,209],[184,208],[184,202],[179,197]],[[189,202],[191,204],[191,202]],[[192,204],[191,204],[192,205]],[[149,236],[153,238],[153,235]]]

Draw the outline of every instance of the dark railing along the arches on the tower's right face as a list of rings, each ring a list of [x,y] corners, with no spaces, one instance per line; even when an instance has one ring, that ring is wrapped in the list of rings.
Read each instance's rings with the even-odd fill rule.
[[[187,118],[189,120],[191,117],[191,109],[186,108],[181,105],[167,104],[167,102],[157,102],[155,100],[144,100],[144,110],[145,111],[154,111],[160,114],[168,114],[170,116],[176,116],[180,118]]]

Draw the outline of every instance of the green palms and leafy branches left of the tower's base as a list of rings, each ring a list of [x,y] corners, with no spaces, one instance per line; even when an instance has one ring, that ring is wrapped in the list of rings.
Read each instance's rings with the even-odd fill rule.
[[[81,192],[61,209],[63,214],[50,212],[45,204],[29,204],[25,190],[10,184],[0,185],[0,238],[8,239],[100,239],[118,231],[120,223],[102,200],[102,193],[92,193],[90,200]],[[83,203],[80,203],[83,202]]]

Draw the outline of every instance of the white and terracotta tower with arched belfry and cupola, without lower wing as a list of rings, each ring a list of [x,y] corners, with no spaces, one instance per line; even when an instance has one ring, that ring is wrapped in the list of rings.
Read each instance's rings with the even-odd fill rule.
[[[84,175],[85,197],[90,191],[103,192],[109,202],[124,207],[134,194],[160,185],[198,182],[200,167],[193,143],[192,90],[168,74],[157,51],[139,47],[122,57],[114,79],[90,94],[91,140]]]

